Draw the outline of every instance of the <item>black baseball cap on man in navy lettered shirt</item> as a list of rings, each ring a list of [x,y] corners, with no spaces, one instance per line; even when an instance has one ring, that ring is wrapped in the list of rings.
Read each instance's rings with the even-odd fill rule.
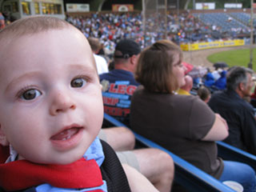
[[[131,39],[122,39],[118,42],[114,50],[114,58],[130,58],[134,54],[139,54],[141,48],[137,42]]]

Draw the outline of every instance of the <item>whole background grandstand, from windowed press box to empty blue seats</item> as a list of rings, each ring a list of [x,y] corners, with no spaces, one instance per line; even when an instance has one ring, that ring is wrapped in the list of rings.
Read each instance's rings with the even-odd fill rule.
[[[98,35],[98,38],[107,45],[110,43],[106,39],[112,40],[113,37],[115,37],[113,41],[119,38],[134,38],[142,46],[162,38],[168,38],[178,44],[237,38],[244,38],[246,44],[249,42],[246,39],[250,38],[250,9],[245,7],[224,9],[222,1],[215,1],[216,7],[222,2],[222,9],[208,10],[206,6],[203,10],[182,9],[182,7],[191,7],[191,3],[196,1],[122,1],[123,10],[114,12],[110,6],[118,6],[120,1],[54,0],[51,2],[0,0],[0,9],[8,18],[12,16],[16,19],[38,14],[65,18],[66,11],[69,22],[85,30],[86,35]],[[203,4],[206,5],[207,2]],[[243,4],[246,6],[246,2]],[[95,10],[101,11],[95,12]],[[78,15],[81,17],[78,18]],[[106,23],[110,25],[107,28]],[[255,18],[254,25],[256,25]],[[90,30],[89,33],[87,30]],[[98,34],[98,30],[101,34]]]

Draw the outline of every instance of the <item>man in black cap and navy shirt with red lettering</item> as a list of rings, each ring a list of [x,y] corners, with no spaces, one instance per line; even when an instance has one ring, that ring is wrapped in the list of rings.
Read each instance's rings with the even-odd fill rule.
[[[105,113],[126,126],[130,126],[130,97],[139,85],[134,79],[134,70],[140,52],[137,42],[121,40],[114,51],[114,70],[100,75]]]

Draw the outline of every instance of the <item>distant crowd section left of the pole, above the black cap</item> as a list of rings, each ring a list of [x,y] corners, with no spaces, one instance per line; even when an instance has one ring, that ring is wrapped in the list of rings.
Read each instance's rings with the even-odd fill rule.
[[[66,20],[78,27],[88,37],[99,38],[106,55],[114,53],[114,46],[121,38],[133,38],[142,46],[141,14],[90,14]]]

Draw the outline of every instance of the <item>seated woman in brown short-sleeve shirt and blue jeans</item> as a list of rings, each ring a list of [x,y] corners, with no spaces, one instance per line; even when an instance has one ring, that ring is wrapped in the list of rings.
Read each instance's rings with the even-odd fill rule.
[[[161,40],[142,51],[135,72],[142,87],[132,97],[131,128],[221,182],[254,191],[250,166],[218,158],[215,141],[228,136],[226,121],[198,97],[175,94],[185,84],[184,71],[182,50],[173,42]]]

